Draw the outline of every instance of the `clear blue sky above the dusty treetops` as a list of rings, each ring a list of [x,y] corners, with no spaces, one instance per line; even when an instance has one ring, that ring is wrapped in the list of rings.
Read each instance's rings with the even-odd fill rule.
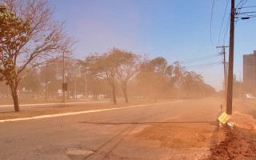
[[[50,0],[56,6],[54,18],[66,22],[66,31],[78,38],[74,51],[76,58],[94,52],[106,52],[117,47],[136,54],[149,54],[150,58],[162,56],[169,63],[186,61],[218,54],[216,46],[229,45],[230,0],[215,0],[211,25],[213,0]],[[228,3],[227,9],[226,4]],[[240,0],[236,0],[238,5]],[[242,1],[243,2],[243,1]],[[242,3],[241,3],[242,4]],[[248,0],[244,6],[256,6]],[[226,16],[222,25],[222,18]],[[256,7],[242,9],[255,11]],[[241,16],[240,16],[241,17]],[[226,42],[223,43],[226,34]],[[242,54],[256,50],[256,18],[239,20],[234,35],[234,74],[239,79]],[[224,31],[224,32],[223,32]],[[212,44],[213,43],[213,44]],[[228,53],[228,48],[226,49]],[[221,62],[222,56],[203,59],[183,66],[200,66]],[[190,70],[190,69],[188,69]],[[192,69],[191,69],[192,70]],[[194,70],[202,74],[206,83],[222,89],[223,66]]]

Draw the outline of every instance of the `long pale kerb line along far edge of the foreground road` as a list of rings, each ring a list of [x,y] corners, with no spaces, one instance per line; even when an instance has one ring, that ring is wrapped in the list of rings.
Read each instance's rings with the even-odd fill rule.
[[[182,101],[173,101],[173,102],[182,102]],[[152,104],[146,104],[146,105],[126,106],[121,108],[110,108],[110,109],[102,109],[102,110],[86,110],[86,111],[79,111],[79,112],[69,112],[64,114],[40,115],[40,116],[31,117],[31,118],[4,119],[4,120],[0,120],[0,122],[16,122],[16,121],[41,119],[41,118],[55,118],[55,117],[61,117],[66,115],[89,114],[89,113],[102,112],[102,111],[108,111],[108,110],[121,110],[121,109],[135,108],[135,107],[141,107],[141,106],[161,105],[166,103],[172,103],[172,102],[160,102],[160,103],[152,103]]]

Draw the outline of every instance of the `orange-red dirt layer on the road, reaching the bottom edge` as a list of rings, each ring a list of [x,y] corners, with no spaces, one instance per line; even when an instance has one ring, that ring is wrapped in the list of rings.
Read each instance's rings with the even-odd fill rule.
[[[170,152],[165,159],[202,160],[211,155],[211,146],[218,146],[224,134],[218,123],[166,123],[146,127],[134,134],[136,138],[158,142]]]

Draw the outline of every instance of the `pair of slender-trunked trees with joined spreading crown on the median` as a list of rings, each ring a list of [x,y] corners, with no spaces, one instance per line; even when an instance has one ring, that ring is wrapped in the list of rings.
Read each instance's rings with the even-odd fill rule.
[[[116,104],[117,83],[120,84],[127,103],[127,84],[138,74],[140,63],[139,55],[114,48],[104,54],[90,54],[82,65],[91,77],[105,79],[108,82],[112,88],[113,102]]]

